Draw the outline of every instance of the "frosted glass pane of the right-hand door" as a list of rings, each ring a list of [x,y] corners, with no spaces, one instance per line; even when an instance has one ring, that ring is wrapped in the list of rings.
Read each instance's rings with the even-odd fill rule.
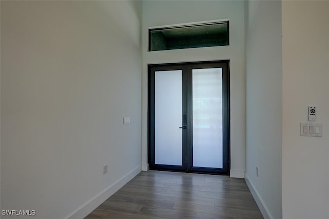
[[[193,167],[223,168],[222,68],[192,70]]]

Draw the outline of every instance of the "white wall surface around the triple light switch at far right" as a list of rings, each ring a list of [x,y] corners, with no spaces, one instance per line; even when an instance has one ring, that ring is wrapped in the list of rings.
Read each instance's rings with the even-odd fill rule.
[[[282,210],[285,219],[329,218],[329,2],[282,2]],[[300,136],[317,106],[323,137]]]

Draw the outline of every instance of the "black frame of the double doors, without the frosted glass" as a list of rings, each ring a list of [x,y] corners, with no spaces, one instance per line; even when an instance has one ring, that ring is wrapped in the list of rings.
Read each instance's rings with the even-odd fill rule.
[[[223,168],[193,167],[192,149],[192,69],[221,67],[223,80]],[[182,114],[187,115],[187,129],[182,131],[182,166],[155,164],[154,85],[155,71],[182,70]],[[230,81],[229,61],[186,62],[148,65],[148,160],[150,170],[229,175],[230,169]]]

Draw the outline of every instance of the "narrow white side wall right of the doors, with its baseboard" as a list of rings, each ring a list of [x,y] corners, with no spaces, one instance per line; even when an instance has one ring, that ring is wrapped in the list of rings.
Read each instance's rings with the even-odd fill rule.
[[[282,218],[281,27],[281,1],[246,2],[246,181],[264,217],[278,219]]]

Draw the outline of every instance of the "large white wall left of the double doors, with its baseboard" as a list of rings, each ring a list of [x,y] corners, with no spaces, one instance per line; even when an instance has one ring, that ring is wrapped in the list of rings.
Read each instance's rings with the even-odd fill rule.
[[[141,170],[140,22],[134,1],[1,1],[1,209],[83,218]]]

